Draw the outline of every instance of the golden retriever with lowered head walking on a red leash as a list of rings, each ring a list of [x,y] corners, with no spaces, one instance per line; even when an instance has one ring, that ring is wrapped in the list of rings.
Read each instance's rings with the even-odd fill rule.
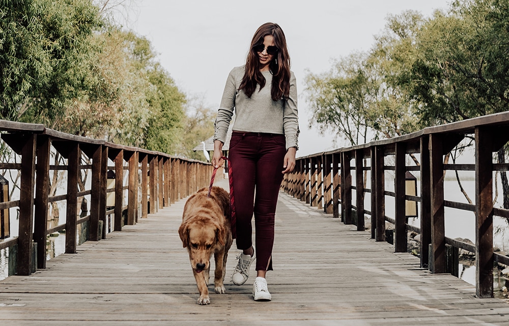
[[[228,250],[232,246],[232,226],[230,223],[230,195],[220,187],[212,187],[210,197],[208,188],[193,194],[184,206],[179,235],[184,248],[189,252],[192,272],[200,292],[198,304],[210,304],[209,283],[210,257],[214,253],[214,291],[219,294],[224,289],[224,274]]]

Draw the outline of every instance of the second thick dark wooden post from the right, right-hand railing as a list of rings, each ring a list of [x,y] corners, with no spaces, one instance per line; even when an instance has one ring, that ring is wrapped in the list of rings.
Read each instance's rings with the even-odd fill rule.
[[[491,157],[491,156],[490,156]],[[444,168],[442,137],[430,135],[432,273],[445,273]]]

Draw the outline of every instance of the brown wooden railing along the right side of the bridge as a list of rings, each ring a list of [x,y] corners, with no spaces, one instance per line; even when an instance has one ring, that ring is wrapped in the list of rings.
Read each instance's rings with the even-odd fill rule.
[[[465,137],[474,142],[474,162],[444,164],[444,155]],[[370,215],[371,237],[376,241],[385,241],[385,222],[393,223],[395,252],[407,251],[407,231],[420,233],[420,265],[432,273],[447,272],[446,245],[473,252],[476,295],[491,298],[494,262],[509,265],[509,257],[493,250],[493,216],[509,218],[509,210],[493,207],[493,172],[509,170],[509,164],[494,163],[493,152],[508,140],[509,112],[428,127],[402,137],[300,157],[282,188],[333,217],[341,216],[345,224],[355,223],[359,231],[365,230],[364,215]],[[419,156],[419,165],[407,166],[410,154]],[[386,165],[390,160],[394,164]],[[387,191],[384,184],[388,170],[394,173],[394,191]],[[446,170],[475,171],[475,204],[444,200]],[[406,194],[407,171],[419,171],[419,195]],[[366,193],[370,194],[371,211],[365,209]],[[386,196],[393,197],[393,218],[385,215]],[[407,224],[406,201],[420,203],[420,227]],[[445,207],[475,213],[475,245],[445,237]]]

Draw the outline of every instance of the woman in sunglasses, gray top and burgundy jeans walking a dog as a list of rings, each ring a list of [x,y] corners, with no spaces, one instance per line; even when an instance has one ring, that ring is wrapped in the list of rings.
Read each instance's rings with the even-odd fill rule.
[[[214,167],[223,163],[222,146],[234,110],[228,159],[232,168],[231,195],[235,198],[236,242],[242,253],[232,281],[244,284],[258,255],[253,297],[255,301],[270,301],[265,276],[272,270],[277,195],[283,174],[295,167],[299,135],[296,80],[279,25],[260,26],[252,38],[246,64],[234,68],[228,76],[215,121]],[[253,213],[256,255],[252,246]]]

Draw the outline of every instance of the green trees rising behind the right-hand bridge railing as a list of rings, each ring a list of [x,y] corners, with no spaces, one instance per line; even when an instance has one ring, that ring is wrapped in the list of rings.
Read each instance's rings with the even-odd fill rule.
[[[413,11],[389,16],[369,54],[308,75],[310,124],[356,144],[356,133],[393,137],[507,111],[507,26],[509,0],[457,0],[428,19]]]

